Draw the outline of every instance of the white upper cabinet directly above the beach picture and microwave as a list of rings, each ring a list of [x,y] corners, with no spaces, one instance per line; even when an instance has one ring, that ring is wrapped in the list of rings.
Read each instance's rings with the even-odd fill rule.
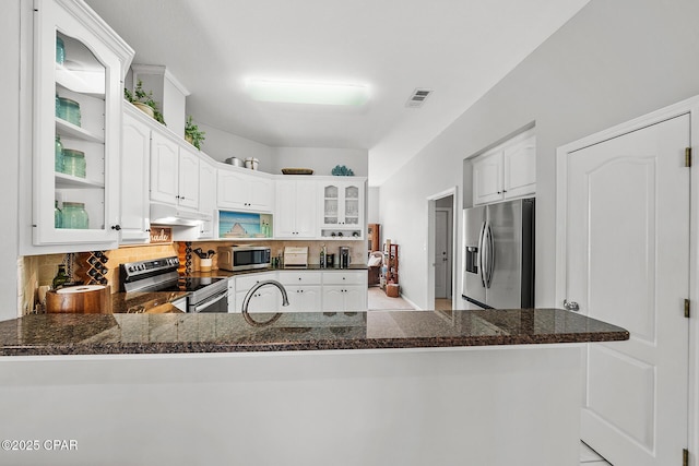
[[[274,180],[269,175],[251,174],[242,168],[218,168],[218,208],[272,212]]]

